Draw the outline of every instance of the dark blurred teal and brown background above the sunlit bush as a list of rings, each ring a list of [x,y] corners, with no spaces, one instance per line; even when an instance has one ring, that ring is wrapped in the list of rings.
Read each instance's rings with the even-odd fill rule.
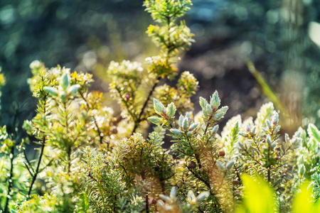
[[[36,99],[27,79],[33,60],[95,76],[93,89],[107,92],[111,60],[136,60],[158,50],[144,33],[154,23],[142,0],[1,0],[1,124],[32,119]],[[255,116],[269,99],[289,114],[284,131],[309,122],[320,126],[319,0],[193,0],[183,17],[195,34],[179,68],[200,82],[198,96],[218,90],[230,110]],[[265,84],[267,83],[267,84]],[[269,85],[269,87],[267,86]],[[272,91],[272,92],[271,92]],[[198,104],[195,104],[196,111]],[[281,119],[281,118],[280,118]]]

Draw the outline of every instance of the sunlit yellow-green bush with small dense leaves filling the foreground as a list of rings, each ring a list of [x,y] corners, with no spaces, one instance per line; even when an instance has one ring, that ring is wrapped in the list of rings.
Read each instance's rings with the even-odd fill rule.
[[[160,53],[146,65],[111,62],[107,73],[119,115],[105,107],[102,93],[90,91],[92,75],[31,63],[38,106],[23,124],[29,136],[0,129],[2,212],[288,212],[301,207],[291,200],[311,177],[319,197],[316,126],[282,138],[279,114],[268,103],[255,121],[235,116],[218,133],[228,110],[218,92],[200,97],[202,111],[193,114],[198,82],[190,72],[181,73],[176,87],[160,84],[176,79],[179,55],[193,42],[177,21],[190,5],[144,1],[159,23],[147,33]],[[169,149],[162,146],[165,138]],[[26,143],[38,144],[35,160],[28,159]],[[246,175],[265,195],[250,188]],[[269,203],[252,207],[255,194]]]

